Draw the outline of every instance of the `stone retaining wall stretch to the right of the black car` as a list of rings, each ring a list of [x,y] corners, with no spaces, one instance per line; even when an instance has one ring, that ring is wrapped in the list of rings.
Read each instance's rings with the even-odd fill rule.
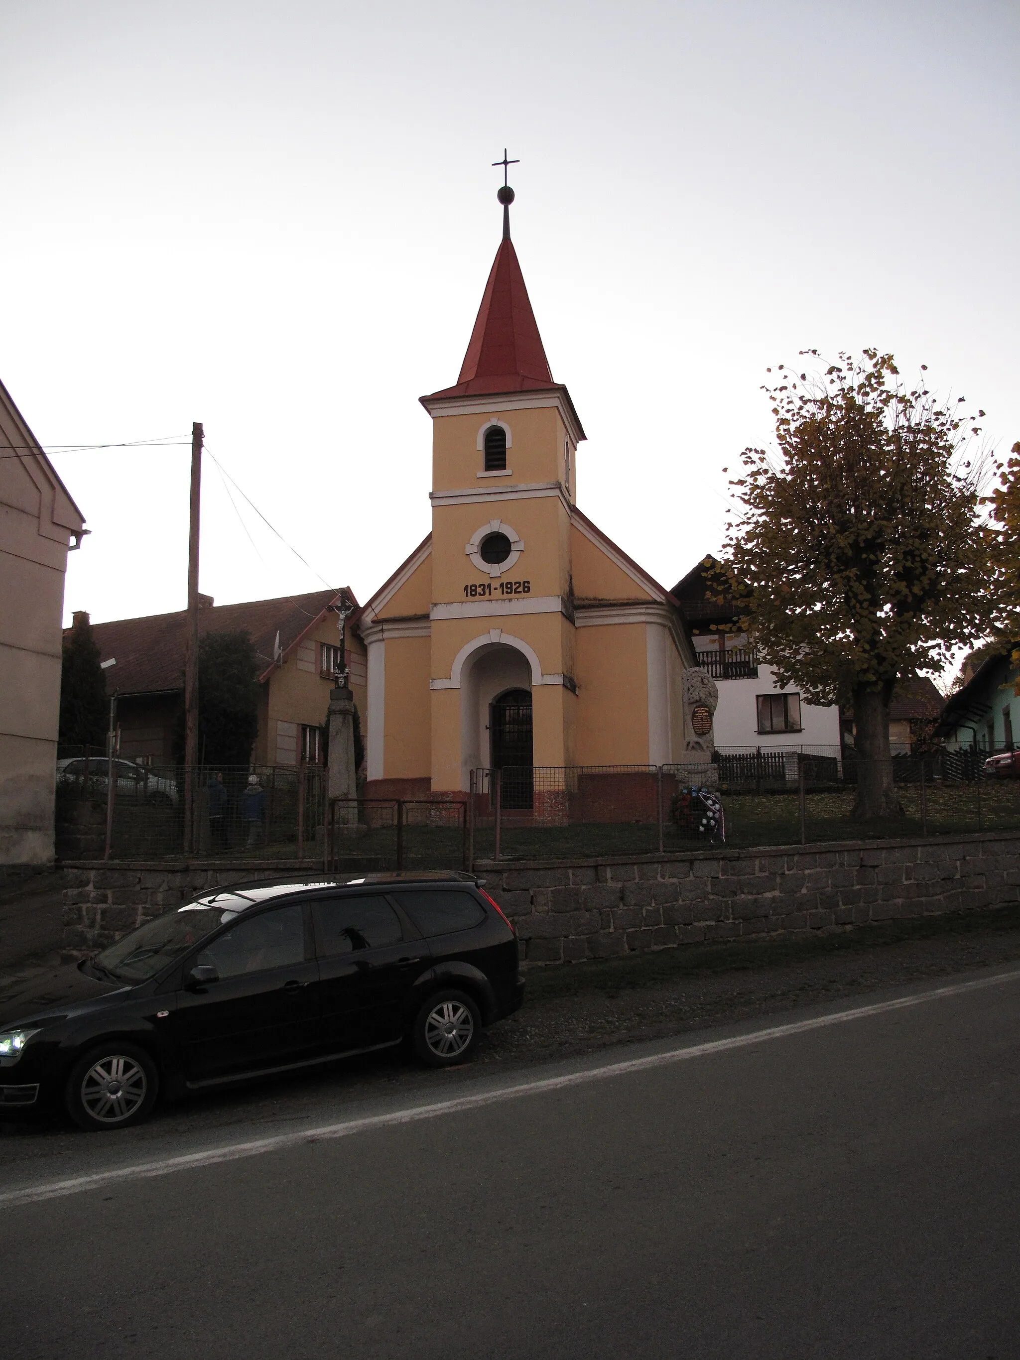
[[[1020,899],[1020,834],[488,865],[530,963],[709,940],[806,936]]]

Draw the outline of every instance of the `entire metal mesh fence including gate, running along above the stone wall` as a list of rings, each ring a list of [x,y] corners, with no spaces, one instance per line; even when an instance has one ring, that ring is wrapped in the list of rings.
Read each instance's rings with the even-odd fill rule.
[[[316,858],[326,868],[471,868],[1020,828],[1020,753],[892,756],[894,806],[857,816],[864,762],[834,748],[717,751],[670,766],[475,770],[471,789],[422,800],[328,800],[321,767],[193,771],[192,854]],[[185,771],[95,751],[57,762],[57,854],[185,853]]]

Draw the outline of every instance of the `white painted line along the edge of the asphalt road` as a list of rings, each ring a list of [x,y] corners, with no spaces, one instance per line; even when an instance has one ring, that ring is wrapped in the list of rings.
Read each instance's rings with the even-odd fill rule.
[[[938,1001],[942,997],[959,997],[967,991],[978,991],[982,987],[994,987],[1002,982],[1017,981],[1020,981],[1020,968],[1015,968],[1010,972],[998,972],[991,978],[975,978],[972,982],[955,982],[945,987],[933,987],[930,991],[898,997],[894,1001],[879,1001],[869,1006],[835,1010],[827,1016],[813,1016],[811,1020],[792,1020],[789,1024],[770,1025],[767,1030],[755,1030],[751,1034],[734,1035],[730,1039],[711,1039],[707,1043],[670,1049],[668,1053],[656,1053],[647,1058],[627,1058],[623,1062],[609,1062],[605,1066],[589,1068],[585,1072],[570,1072],[560,1077],[540,1077],[536,1081],[521,1081],[515,1085],[500,1087],[498,1091],[480,1091],[476,1095],[461,1096],[456,1100],[437,1100],[434,1104],[412,1106],[408,1110],[367,1115],[363,1119],[345,1119],[341,1123],[328,1123],[318,1129],[305,1129],[301,1133],[282,1133],[271,1138],[256,1138],[252,1142],[233,1142],[224,1148],[209,1148],[207,1152],[189,1152],[178,1157],[163,1157],[159,1161],[143,1161],[135,1166],[117,1167],[112,1171],[98,1171],[88,1176],[49,1180],[42,1185],[26,1186],[22,1190],[8,1190],[0,1194],[0,1209],[12,1208],[19,1204],[35,1204],[41,1200],[56,1200],[61,1195],[78,1194],[82,1190],[97,1190],[116,1185],[120,1180],[166,1176],[174,1171],[214,1167],[220,1161],[237,1161],[241,1157],[261,1156],[264,1152],[280,1152],[286,1148],[299,1148],[309,1142],[345,1138],[352,1133],[367,1133],[371,1129],[388,1129],[394,1125],[416,1123],[419,1119],[435,1119],[439,1115],[460,1114],[464,1110],[480,1110],[484,1106],[498,1104],[502,1100],[544,1095],[547,1091],[563,1091],[567,1087],[579,1087],[589,1081],[623,1077],[631,1072],[649,1072],[653,1068],[665,1068],[673,1062],[685,1062],[688,1058],[706,1058],[715,1053],[726,1053],[730,1049],[747,1049],[751,1044],[766,1043],[770,1039],[785,1039],[792,1034],[824,1030],[828,1025],[845,1024],[847,1020],[865,1020],[868,1016],[880,1016],[889,1010],[906,1010],[910,1006],[919,1006],[926,1001]]]

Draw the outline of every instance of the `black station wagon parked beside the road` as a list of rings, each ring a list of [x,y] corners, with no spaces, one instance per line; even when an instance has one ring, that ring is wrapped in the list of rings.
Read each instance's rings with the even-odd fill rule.
[[[0,994],[0,1117],[122,1129],[159,1095],[401,1042],[445,1068],[522,997],[514,929],[472,877],[237,884]]]

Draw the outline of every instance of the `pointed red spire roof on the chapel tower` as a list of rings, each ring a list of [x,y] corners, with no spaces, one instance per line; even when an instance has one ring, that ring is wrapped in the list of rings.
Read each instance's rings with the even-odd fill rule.
[[[496,250],[481,306],[453,388],[432,397],[555,388],[513,241]]]

